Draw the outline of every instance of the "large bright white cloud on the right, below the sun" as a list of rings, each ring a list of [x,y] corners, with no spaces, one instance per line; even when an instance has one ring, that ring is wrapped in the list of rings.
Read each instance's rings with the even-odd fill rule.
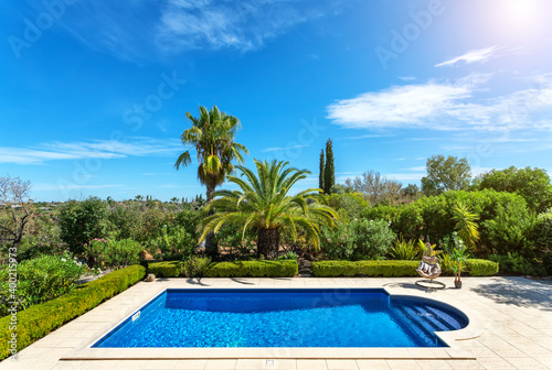
[[[328,118],[352,129],[433,129],[513,131],[552,129],[552,74],[533,76],[529,88],[488,95],[490,75],[456,81],[394,86],[328,106]],[[532,139],[532,138],[524,138]]]

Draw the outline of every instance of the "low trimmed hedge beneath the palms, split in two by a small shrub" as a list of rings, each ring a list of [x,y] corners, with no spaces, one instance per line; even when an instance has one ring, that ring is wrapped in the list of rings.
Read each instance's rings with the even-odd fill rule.
[[[148,265],[148,272],[156,276],[183,276],[182,261],[156,262]],[[297,275],[298,264],[295,260],[285,261],[237,261],[211,263],[203,272],[205,278],[291,278]]]

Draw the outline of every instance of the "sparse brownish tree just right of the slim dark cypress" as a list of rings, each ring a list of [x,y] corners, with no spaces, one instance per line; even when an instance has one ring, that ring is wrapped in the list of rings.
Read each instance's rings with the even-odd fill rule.
[[[367,171],[362,177],[355,177],[352,181],[348,178],[346,185],[352,187],[354,192],[362,193],[372,206],[382,202],[394,204],[401,198],[403,186],[400,182],[381,176],[375,171]]]

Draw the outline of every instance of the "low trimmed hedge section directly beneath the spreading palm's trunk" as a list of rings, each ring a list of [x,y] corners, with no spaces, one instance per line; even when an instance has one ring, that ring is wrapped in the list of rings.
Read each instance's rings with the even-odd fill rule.
[[[237,261],[212,263],[206,278],[293,278],[298,273],[297,261]]]

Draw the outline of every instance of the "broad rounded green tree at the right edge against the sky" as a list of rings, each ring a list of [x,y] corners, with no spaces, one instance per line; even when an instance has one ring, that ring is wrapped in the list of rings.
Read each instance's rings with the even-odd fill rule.
[[[526,198],[528,206],[542,213],[552,206],[552,185],[546,171],[541,168],[492,170],[474,181],[474,188],[491,188],[497,192],[517,193]]]

